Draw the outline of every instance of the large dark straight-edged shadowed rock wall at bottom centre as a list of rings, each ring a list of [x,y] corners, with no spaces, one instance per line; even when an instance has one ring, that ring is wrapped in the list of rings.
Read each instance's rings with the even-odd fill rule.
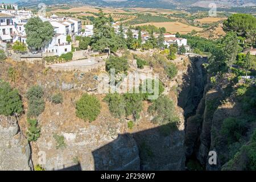
[[[165,125],[123,134],[92,154],[95,170],[184,170],[184,131]]]

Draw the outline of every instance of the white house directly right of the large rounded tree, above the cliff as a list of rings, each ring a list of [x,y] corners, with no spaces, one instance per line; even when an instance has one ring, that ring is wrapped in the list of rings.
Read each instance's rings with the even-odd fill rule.
[[[55,34],[48,46],[42,50],[44,53],[52,53],[52,55],[60,56],[64,53],[72,51],[71,43],[67,42],[67,36],[63,34]]]

